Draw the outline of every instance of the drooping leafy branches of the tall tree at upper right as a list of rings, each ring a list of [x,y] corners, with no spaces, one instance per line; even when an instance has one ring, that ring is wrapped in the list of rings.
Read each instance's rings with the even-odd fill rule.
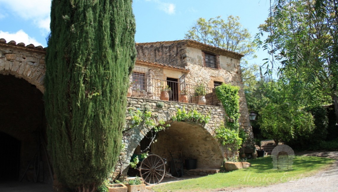
[[[338,122],[337,3],[275,0],[259,29],[266,39],[258,42],[271,55],[267,72],[277,68],[294,100],[306,107],[334,103]]]

